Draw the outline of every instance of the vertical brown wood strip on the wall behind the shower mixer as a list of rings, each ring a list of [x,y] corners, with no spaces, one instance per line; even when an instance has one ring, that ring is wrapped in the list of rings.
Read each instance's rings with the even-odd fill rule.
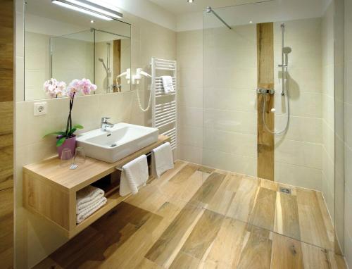
[[[257,58],[258,88],[274,89],[274,25],[273,23],[257,24]],[[263,94],[257,94],[258,109],[258,177],[274,180],[274,134],[263,125]],[[266,96],[265,123],[270,130],[275,127],[275,115],[270,110],[274,106],[274,95]]]

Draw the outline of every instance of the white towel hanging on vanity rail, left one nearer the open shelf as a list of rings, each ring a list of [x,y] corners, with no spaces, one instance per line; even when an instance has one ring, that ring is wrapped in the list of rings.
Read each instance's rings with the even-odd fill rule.
[[[142,155],[135,158],[130,163],[122,166],[121,180],[120,180],[120,195],[137,194],[138,187],[145,185],[148,180],[148,163],[146,156]]]

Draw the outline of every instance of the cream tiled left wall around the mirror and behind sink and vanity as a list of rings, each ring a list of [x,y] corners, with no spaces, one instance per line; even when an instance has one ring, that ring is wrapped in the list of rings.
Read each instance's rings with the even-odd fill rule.
[[[22,4],[16,5],[16,94],[23,100],[23,14]],[[132,23],[132,70],[145,68],[148,71],[151,57],[176,58],[176,33],[160,25],[125,13]],[[134,71],[135,72],[135,71]],[[148,81],[139,85],[144,99]],[[84,125],[84,131],[100,125],[102,116],[110,116],[113,123],[126,122],[146,125],[149,114],[139,110],[135,94],[101,94],[82,96],[75,100],[73,122]],[[149,93],[149,92],[148,92]],[[20,99],[21,100],[21,99]],[[33,116],[33,101],[18,101],[15,104],[15,244],[17,268],[30,268],[67,239],[43,218],[27,213],[22,207],[22,167],[56,154],[54,137],[42,139],[46,132],[60,130],[65,126],[68,113],[67,99],[46,100],[48,113]]]

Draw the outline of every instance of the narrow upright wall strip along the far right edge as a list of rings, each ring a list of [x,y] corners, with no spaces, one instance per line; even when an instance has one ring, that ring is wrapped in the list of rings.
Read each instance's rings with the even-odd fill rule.
[[[352,2],[345,1],[345,231],[344,251],[352,268]]]

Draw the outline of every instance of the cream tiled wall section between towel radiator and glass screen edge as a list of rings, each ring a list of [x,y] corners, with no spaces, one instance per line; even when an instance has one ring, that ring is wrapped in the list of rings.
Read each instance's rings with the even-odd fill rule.
[[[178,157],[202,163],[203,32],[177,32]]]

